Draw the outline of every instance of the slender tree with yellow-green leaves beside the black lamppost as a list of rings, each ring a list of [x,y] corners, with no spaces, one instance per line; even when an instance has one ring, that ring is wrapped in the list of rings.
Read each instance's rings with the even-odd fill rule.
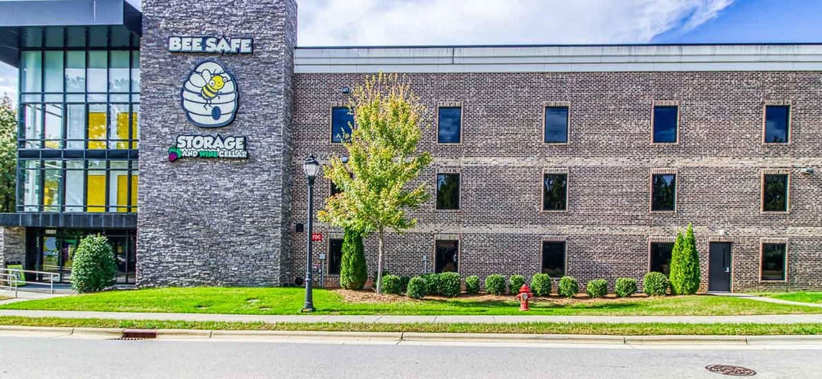
[[[416,225],[406,210],[418,208],[430,196],[424,184],[405,188],[431,162],[431,154],[417,150],[424,107],[409,84],[381,73],[353,90],[349,109],[356,126],[343,143],[349,161],[335,157],[324,167],[325,176],[342,192],[328,199],[317,218],[363,235],[376,233],[375,281],[381,294],[386,231],[401,233]]]

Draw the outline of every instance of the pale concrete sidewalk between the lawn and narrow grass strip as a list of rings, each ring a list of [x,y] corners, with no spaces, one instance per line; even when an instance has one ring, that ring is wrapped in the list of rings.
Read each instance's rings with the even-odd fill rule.
[[[822,322],[822,314],[782,314],[757,316],[340,316],[340,315],[251,315],[208,313],[136,313],[86,311],[0,310],[0,317],[109,318],[118,320],[188,321],[188,322],[364,322],[364,323],[517,323],[517,322],[585,322],[585,323],[767,323],[797,324]]]

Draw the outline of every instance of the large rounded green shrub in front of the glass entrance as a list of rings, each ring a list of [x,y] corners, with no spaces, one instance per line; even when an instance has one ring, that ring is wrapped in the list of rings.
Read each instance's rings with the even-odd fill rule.
[[[72,288],[77,292],[94,292],[112,284],[117,263],[103,235],[89,235],[80,241],[72,263]]]

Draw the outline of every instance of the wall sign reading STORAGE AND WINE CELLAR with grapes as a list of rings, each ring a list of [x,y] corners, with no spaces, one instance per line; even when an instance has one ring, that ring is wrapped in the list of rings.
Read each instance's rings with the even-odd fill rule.
[[[178,135],[177,143],[169,148],[169,162],[181,158],[248,158],[246,142],[246,137]]]

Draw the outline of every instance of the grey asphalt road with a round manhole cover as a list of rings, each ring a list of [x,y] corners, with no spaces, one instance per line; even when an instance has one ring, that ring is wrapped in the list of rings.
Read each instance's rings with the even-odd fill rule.
[[[621,378],[723,375],[712,363],[757,378],[812,378],[820,349],[580,348],[328,345],[322,343],[81,340],[0,337],[0,378]]]

